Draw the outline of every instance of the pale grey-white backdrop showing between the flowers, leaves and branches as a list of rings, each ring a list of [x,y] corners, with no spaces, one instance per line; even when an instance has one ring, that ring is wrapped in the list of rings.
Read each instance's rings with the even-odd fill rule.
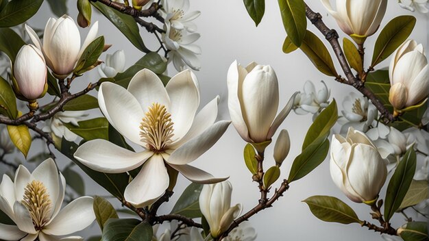
[[[323,9],[320,1],[307,2],[313,10],[321,12],[328,27],[336,27],[335,21],[326,14],[326,10]],[[68,5],[70,15],[76,18],[75,1],[69,0]],[[40,29],[43,29],[47,19],[53,16],[46,3],[43,3],[42,8],[44,10],[38,12],[29,21],[32,26]],[[339,108],[341,108],[343,97],[352,91],[349,86],[341,85],[335,82],[333,78],[319,73],[301,51],[295,51],[289,55],[282,52],[282,43],[286,33],[282,26],[277,1],[267,1],[265,16],[258,27],[255,27],[245,10],[243,1],[240,0],[191,0],[191,10],[201,11],[201,16],[195,20],[198,25],[198,32],[201,33],[201,38],[196,43],[203,49],[202,55],[199,56],[202,68],[201,71],[196,73],[201,88],[201,106],[204,106],[217,94],[221,95],[223,100],[221,118],[229,118],[228,110],[225,109],[226,74],[228,67],[234,60],[238,60],[244,65],[252,61],[260,64],[271,64],[280,81],[281,107],[286,104],[293,92],[302,90],[306,80],[313,81],[316,88],[321,87],[320,81],[322,79],[326,81],[328,87],[332,90],[332,96],[339,103]],[[109,53],[124,49],[127,66],[132,65],[143,56],[143,53],[140,53],[132,44],[128,43],[125,37],[110,22],[95,12],[96,10],[93,10],[93,22],[99,21],[99,35],[104,35],[106,43],[113,45]],[[397,1],[389,0],[387,14],[384,17],[382,26],[393,16],[400,14],[411,13],[400,8],[397,5]],[[413,31],[412,38],[428,46],[428,17],[417,13],[413,13],[413,15],[417,17],[417,25],[415,31]],[[308,28],[318,36],[321,36],[315,27],[309,26]],[[88,29],[81,29],[82,38],[86,36],[87,31]],[[145,29],[141,29],[140,33],[149,48],[158,48],[154,37],[147,34]],[[340,35],[343,37],[342,33]],[[367,54],[365,55],[368,59],[367,62],[371,58],[373,50],[371,45],[375,38],[371,37],[367,40]],[[427,49],[429,49],[429,46]],[[104,55],[101,57],[104,58]],[[388,61],[383,62],[380,66],[388,66]],[[173,74],[175,74],[175,70],[169,68],[169,75]],[[92,71],[86,74],[85,77],[73,82],[73,84],[78,85],[79,82],[82,85],[78,88],[84,88],[84,86],[88,85],[88,82],[95,82],[97,79],[99,79],[97,71]],[[282,124],[281,128],[287,129],[291,135],[291,152],[281,168],[282,177],[287,177],[289,174],[291,162],[299,154],[302,140],[310,124],[310,114],[297,116],[293,112]],[[277,138],[277,135],[275,138]],[[245,142],[236,134],[234,127],[231,125],[221,140],[193,164],[204,168],[204,170],[209,170],[210,173],[217,176],[229,175],[234,187],[232,203],[243,203],[244,211],[247,211],[258,203],[259,192],[256,183],[252,183],[252,177],[243,162],[244,146]],[[35,150],[36,148],[36,146],[32,147],[32,151],[37,151]],[[269,163],[270,165],[273,164],[272,153],[273,147],[269,147],[266,151],[266,162],[271,162]],[[58,154],[58,162],[64,162],[65,160],[66,157]],[[67,181],[71,182],[73,180]],[[107,194],[103,188],[97,186],[90,179],[86,178],[86,181],[86,194]],[[180,177],[175,188],[175,195],[170,203],[162,206],[161,213],[168,213],[171,210],[175,200],[188,184],[189,181]],[[276,184],[277,186],[279,185],[279,183]],[[326,160],[306,178],[292,183],[290,190],[284,194],[280,201],[275,202],[272,208],[260,212],[249,221],[258,232],[257,240],[382,240],[378,233],[368,231],[357,224],[324,223],[312,216],[308,206],[302,203],[302,200],[317,194],[337,196],[351,205],[360,219],[369,220],[370,218],[370,210],[367,205],[352,203],[334,186],[330,179],[328,160]],[[110,201],[115,203],[114,199],[110,199]],[[398,227],[402,223],[404,223],[402,217],[398,216],[393,219],[393,227]],[[99,227],[95,223],[90,229],[83,231],[81,234],[88,237],[97,233],[99,233]]]

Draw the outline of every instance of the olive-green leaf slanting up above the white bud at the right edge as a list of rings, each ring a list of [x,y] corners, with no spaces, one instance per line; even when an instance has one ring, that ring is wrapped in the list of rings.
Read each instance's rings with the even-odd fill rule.
[[[414,16],[397,16],[387,23],[376,40],[371,66],[387,59],[410,36],[415,22]]]

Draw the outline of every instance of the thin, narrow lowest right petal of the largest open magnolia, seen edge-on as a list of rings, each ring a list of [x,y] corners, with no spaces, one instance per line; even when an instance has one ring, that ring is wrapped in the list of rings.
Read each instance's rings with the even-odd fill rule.
[[[210,173],[206,173],[204,170],[196,168],[190,165],[173,165],[169,164],[172,168],[175,168],[179,173],[182,173],[186,179],[194,183],[212,184],[225,181],[229,177],[213,177]]]

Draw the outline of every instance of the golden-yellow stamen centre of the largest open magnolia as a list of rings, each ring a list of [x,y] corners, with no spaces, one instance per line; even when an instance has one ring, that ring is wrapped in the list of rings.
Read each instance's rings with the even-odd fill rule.
[[[173,142],[171,138],[174,136],[174,129],[171,114],[167,112],[165,105],[152,103],[142,120],[141,141],[145,142],[151,151],[163,152],[167,145]]]

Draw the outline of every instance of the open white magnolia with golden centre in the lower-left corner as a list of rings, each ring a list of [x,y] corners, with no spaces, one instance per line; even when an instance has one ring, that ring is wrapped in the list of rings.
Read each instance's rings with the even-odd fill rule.
[[[42,162],[33,173],[25,166],[16,170],[14,181],[3,175],[0,210],[16,225],[0,223],[2,240],[51,241],[88,227],[95,220],[93,198],[82,196],[62,210],[66,181],[55,162]],[[83,240],[69,236],[62,240]]]

